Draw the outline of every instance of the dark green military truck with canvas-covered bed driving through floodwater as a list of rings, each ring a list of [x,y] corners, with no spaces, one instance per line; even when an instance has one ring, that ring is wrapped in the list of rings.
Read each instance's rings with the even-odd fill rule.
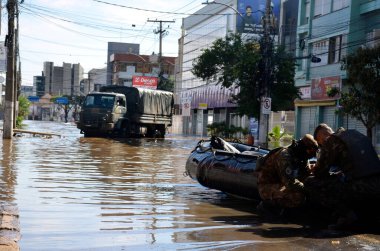
[[[85,137],[164,137],[172,124],[173,93],[127,86],[103,86],[88,94],[77,128]]]

